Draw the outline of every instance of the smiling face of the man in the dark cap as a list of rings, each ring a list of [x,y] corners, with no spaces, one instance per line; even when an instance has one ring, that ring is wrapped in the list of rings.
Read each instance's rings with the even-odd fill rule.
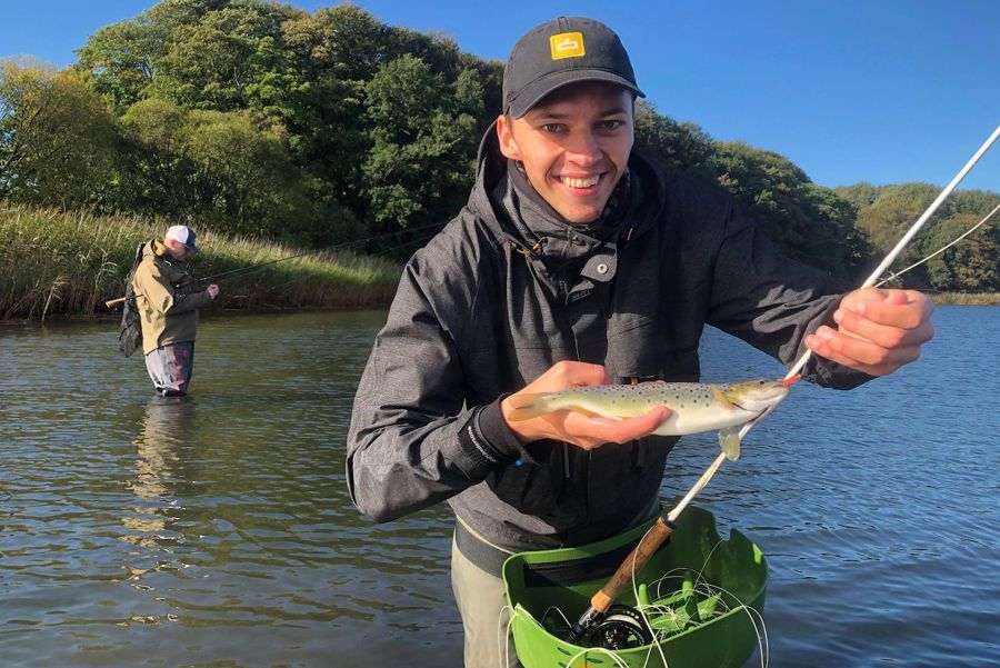
[[[632,94],[611,83],[567,86],[518,119],[500,116],[500,151],[570,222],[592,222],[632,150]]]

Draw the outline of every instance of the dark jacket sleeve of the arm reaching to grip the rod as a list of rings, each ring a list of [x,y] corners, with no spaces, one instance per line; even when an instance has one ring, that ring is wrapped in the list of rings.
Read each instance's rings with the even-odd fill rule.
[[[842,297],[827,272],[781,255],[731,203],[719,247],[708,321],[787,367],[807,350],[803,339],[820,325],[836,327],[833,311]],[[811,382],[851,389],[872,377],[811,356],[802,376]]]

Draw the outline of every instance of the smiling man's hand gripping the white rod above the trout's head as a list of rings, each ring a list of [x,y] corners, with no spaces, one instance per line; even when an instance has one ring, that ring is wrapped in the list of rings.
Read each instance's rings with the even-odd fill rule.
[[[806,347],[846,367],[886,376],[920,357],[920,347],[934,336],[933,310],[916,290],[854,290],[833,313],[837,329],[820,326],[806,337]]]

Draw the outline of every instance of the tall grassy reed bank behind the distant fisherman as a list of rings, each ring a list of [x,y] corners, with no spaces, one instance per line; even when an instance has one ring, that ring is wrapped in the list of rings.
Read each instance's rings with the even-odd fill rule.
[[[136,246],[162,237],[166,222],[93,217],[0,202],[0,319],[107,313],[124,293]],[[198,230],[198,276],[277,260],[300,249]],[[277,262],[219,280],[223,308],[348,308],[386,305],[400,267],[349,252]],[[119,311],[120,312],[120,311]]]

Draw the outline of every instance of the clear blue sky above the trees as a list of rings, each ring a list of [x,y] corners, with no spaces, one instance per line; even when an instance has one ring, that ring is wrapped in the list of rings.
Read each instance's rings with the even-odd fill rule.
[[[150,0],[4,3],[0,57],[74,60]],[[336,4],[297,0],[307,10]],[[1000,0],[362,0],[379,20],[504,60],[560,14],[611,26],[660,113],[787,156],[817,183],[946,185],[1000,124]],[[1000,142],[962,182],[1000,192]]]

